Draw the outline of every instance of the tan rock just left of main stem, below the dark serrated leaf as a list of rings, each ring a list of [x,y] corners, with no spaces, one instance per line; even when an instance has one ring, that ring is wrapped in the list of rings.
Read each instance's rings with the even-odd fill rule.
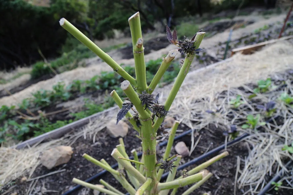
[[[116,119],[111,120],[107,125],[107,132],[111,137],[125,137],[128,133],[128,125],[126,122],[120,120],[116,125]]]

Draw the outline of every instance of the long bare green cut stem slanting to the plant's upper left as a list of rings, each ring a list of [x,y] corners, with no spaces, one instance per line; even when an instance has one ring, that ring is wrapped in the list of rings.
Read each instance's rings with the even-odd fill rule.
[[[132,85],[136,85],[136,80],[130,76],[125,70],[117,64],[108,54],[106,54],[102,49],[100,49],[95,43],[93,43],[86,35],[80,32],[74,25],[72,25],[65,18],[61,18],[59,21],[60,25],[67,30],[70,34],[72,34],[76,39],[78,39],[81,43],[88,47],[92,52],[97,54],[103,61],[105,61],[108,65],[110,65],[113,70],[115,70],[119,75],[121,75]]]

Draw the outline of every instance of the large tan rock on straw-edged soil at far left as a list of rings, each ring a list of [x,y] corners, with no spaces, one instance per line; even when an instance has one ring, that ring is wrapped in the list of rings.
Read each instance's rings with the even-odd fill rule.
[[[47,169],[68,163],[73,151],[70,146],[57,146],[43,152],[41,163]]]

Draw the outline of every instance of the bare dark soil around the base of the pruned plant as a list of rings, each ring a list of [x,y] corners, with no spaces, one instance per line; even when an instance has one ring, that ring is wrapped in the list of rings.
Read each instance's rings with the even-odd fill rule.
[[[188,128],[185,125],[181,125],[181,128],[184,131],[188,130]],[[201,141],[198,144],[197,149],[192,153],[190,157],[183,158],[182,164],[184,162],[188,162],[192,160],[193,158],[196,158],[200,155],[202,155],[205,152],[205,149],[202,149],[200,147],[209,147],[210,149],[213,149],[220,144],[224,143],[225,137],[222,135],[221,129],[217,129],[215,126],[211,125],[210,129],[215,132],[215,134],[211,135],[208,130],[201,130],[199,133],[202,134]],[[130,151],[133,148],[136,148],[137,151],[140,150],[140,140],[135,136],[137,134],[136,131],[130,130],[127,134],[127,136],[124,138],[125,147],[127,150],[127,154],[130,156]],[[31,178],[38,177],[40,175],[44,175],[47,173],[50,173],[55,170],[59,169],[66,169],[64,172],[60,172],[54,175],[50,175],[47,177],[44,177],[42,179],[39,179],[37,182],[37,185],[35,189],[42,185],[42,182],[45,182],[45,187],[47,190],[57,190],[60,191],[59,194],[63,194],[67,190],[69,190],[71,187],[75,186],[74,183],[72,183],[72,178],[76,177],[80,180],[86,180],[96,173],[100,172],[102,169],[97,167],[96,165],[93,165],[92,163],[88,162],[82,157],[82,154],[87,153],[88,155],[97,158],[98,160],[104,158],[110,165],[114,165],[116,162],[114,158],[110,156],[110,153],[115,148],[117,144],[119,144],[118,138],[114,139],[108,136],[108,134],[105,131],[100,132],[97,137],[99,137],[98,144],[92,145],[92,142],[90,140],[85,141],[83,137],[76,140],[76,142],[72,145],[74,154],[69,161],[69,163],[65,165],[60,165],[56,168],[53,168],[52,170],[47,170],[47,168],[43,167],[42,165],[38,166],[33,173]],[[184,141],[186,145],[190,148],[191,141],[190,141],[190,135],[187,135],[177,141],[174,141],[175,145],[179,141]],[[163,152],[165,151],[165,147],[162,147],[158,150],[157,158],[158,160],[161,159],[161,155],[163,155]],[[234,191],[234,176],[235,176],[235,170],[236,170],[236,156],[240,155],[241,158],[244,158],[244,156],[247,154],[247,148],[243,144],[238,144],[234,146],[233,148],[228,148],[230,156],[223,158],[221,161],[211,165],[208,170],[212,171],[214,174],[216,174],[219,178],[216,178],[215,176],[211,177],[210,180],[204,184],[199,192],[205,192],[205,191],[212,191],[215,192],[218,188],[217,194],[230,194]],[[222,152],[222,151],[221,151]],[[171,151],[172,155],[175,154],[175,150],[172,149]],[[216,156],[219,153],[214,154]],[[213,156],[209,157],[212,158]],[[205,159],[208,160],[209,158]],[[199,165],[200,163],[203,163],[204,161],[200,161],[197,163]],[[196,165],[190,166],[186,168],[186,170],[190,170],[191,168],[195,167]],[[179,176],[179,171],[176,177]],[[28,175],[26,175],[28,176]],[[94,180],[93,184],[98,184],[98,180],[103,179],[106,182],[109,182],[111,185],[115,186],[117,189],[119,189],[122,192],[125,192],[122,189],[122,186],[117,183],[115,180],[113,180],[112,175],[109,173],[103,175],[100,178],[97,178]],[[15,188],[15,191],[18,192],[18,194],[25,194],[25,191],[28,189],[30,182],[23,182],[21,183],[19,180],[16,181],[16,184],[18,185]],[[186,190],[188,187],[184,187],[181,189],[178,189],[177,194],[181,194],[183,190]],[[78,191],[72,193],[72,195],[77,195]],[[241,191],[238,191],[237,194],[241,194]]]

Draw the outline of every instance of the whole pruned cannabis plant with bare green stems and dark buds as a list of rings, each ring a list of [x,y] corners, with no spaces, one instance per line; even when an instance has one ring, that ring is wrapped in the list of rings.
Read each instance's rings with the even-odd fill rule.
[[[113,156],[113,158],[115,158],[118,162],[118,170],[111,168],[104,159],[96,160],[87,154],[84,154],[83,157],[110,172],[131,195],[166,195],[171,189],[173,189],[172,194],[176,194],[177,188],[195,183],[192,187],[190,187],[190,189],[184,192],[185,195],[191,194],[212,176],[212,173],[209,173],[205,170],[205,168],[227,156],[228,152],[215,156],[207,162],[198,165],[188,172],[185,172],[183,176],[175,179],[177,167],[182,156],[174,155],[170,157],[170,153],[179,122],[176,121],[174,123],[170,132],[164,130],[162,123],[166,115],[169,113],[168,111],[183,83],[183,80],[189,72],[193,58],[200,51],[203,51],[203,49],[199,48],[199,46],[205,36],[205,32],[199,31],[192,37],[191,40],[185,37],[184,40],[181,41],[177,40],[176,30],[171,33],[171,30],[167,26],[166,33],[168,40],[179,48],[170,51],[169,54],[163,58],[156,75],[152,79],[149,86],[147,86],[144,45],[139,13],[137,12],[132,15],[128,22],[132,36],[136,78],[130,76],[108,54],[103,52],[96,44],[91,42],[90,39],[82,34],[69,21],[64,18],[59,21],[60,25],[65,30],[91,49],[91,51],[97,54],[103,61],[110,65],[114,71],[125,79],[125,81],[121,83],[121,89],[127,96],[127,98],[125,98],[125,102],[122,101],[115,90],[111,92],[111,96],[120,107],[120,111],[117,113],[117,123],[125,117],[139,133],[139,138],[142,140],[142,158],[139,160],[137,152],[133,149],[132,154],[134,156],[134,160],[130,160],[125,151],[123,139],[119,139],[120,144],[117,145],[111,153],[111,156]],[[168,98],[165,103],[161,103],[159,102],[159,94],[156,94],[156,96],[153,94],[154,89],[178,53],[186,54],[186,57],[180,64],[180,72],[178,73]],[[166,133],[169,133],[168,144],[163,158],[158,161],[156,157],[156,138],[157,136],[165,136]],[[164,171],[167,171],[169,175],[165,182],[160,182]],[[126,180],[126,177],[128,177],[128,180]],[[100,182],[107,189],[83,182],[76,178],[73,179],[73,182],[85,187],[96,189],[105,194],[123,194],[115,189],[115,187],[106,184],[103,180],[100,180]]]

